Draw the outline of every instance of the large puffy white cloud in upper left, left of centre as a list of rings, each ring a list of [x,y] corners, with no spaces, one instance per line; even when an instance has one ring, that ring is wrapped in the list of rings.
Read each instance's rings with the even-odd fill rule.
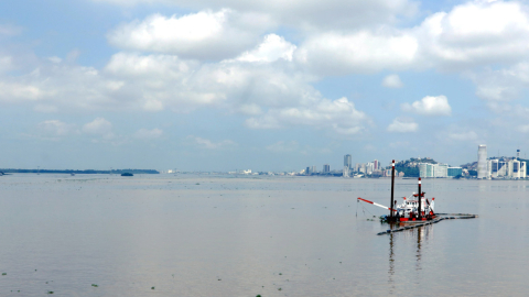
[[[153,14],[141,22],[119,26],[108,40],[122,48],[219,59],[253,46],[270,25],[273,26],[273,22],[264,15],[229,9],[171,18]]]

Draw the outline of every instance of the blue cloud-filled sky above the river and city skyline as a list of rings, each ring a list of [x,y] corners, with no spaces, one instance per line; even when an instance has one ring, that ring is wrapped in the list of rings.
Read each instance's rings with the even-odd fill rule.
[[[529,2],[0,2],[0,168],[300,170],[529,144]]]

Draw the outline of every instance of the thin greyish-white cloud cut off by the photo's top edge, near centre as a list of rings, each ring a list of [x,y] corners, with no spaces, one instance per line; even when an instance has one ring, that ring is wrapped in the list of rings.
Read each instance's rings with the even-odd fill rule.
[[[94,0],[105,1],[121,6],[139,3],[163,3],[191,9],[230,8],[241,12],[259,11],[284,25],[301,28],[303,30],[327,30],[363,28],[380,23],[396,23],[401,19],[410,18],[418,11],[418,3],[409,0]]]

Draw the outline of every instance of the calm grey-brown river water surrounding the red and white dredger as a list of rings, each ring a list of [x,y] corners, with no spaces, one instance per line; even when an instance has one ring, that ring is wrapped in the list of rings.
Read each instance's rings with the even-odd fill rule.
[[[1,176],[0,296],[527,296],[529,182],[422,189],[479,218],[377,235],[389,179]]]

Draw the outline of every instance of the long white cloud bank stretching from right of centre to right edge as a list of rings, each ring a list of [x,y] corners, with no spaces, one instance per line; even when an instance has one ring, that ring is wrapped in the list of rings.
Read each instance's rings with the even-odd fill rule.
[[[388,25],[307,34],[294,59],[317,75],[380,70],[471,70],[529,59],[529,7],[471,1],[415,28]]]

